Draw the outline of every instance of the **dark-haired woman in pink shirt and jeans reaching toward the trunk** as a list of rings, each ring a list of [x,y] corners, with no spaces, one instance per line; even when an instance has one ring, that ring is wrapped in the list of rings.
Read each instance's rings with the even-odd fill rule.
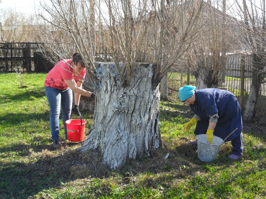
[[[72,66],[72,67],[71,67]],[[59,115],[60,107],[63,113],[65,139],[67,139],[66,120],[70,119],[72,107],[72,91],[75,105],[73,111],[78,110],[80,95],[94,97],[92,92],[82,89],[82,79],[85,78],[86,67],[78,53],[72,59],[61,60],[48,73],[44,81],[45,94],[50,107],[50,127],[53,147],[59,145]]]

